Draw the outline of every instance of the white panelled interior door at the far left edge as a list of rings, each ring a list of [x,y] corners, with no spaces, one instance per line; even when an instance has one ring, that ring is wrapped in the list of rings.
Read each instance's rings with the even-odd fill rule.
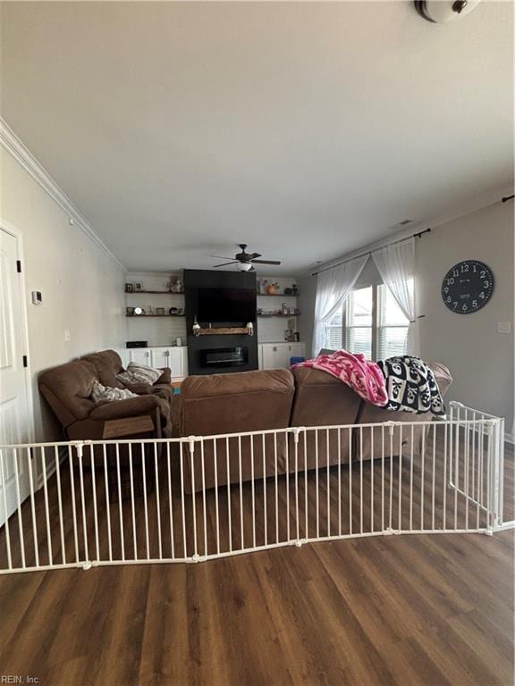
[[[23,325],[23,289],[18,239],[0,227],[0,445],[26,443],[30,439],[30,410]],[[25,459],[21,459],[20,453]],[[15,456],[4,449],[0,455],[0,525],[13,514],[18,501],[29,495],[26,451]],[[16,477],[18,476],[18,483]]]

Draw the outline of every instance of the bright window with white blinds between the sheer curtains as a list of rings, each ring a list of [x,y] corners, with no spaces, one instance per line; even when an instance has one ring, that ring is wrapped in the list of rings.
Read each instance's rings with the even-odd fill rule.
[[[354,289],[342,310],[326,322],[325,347],[344,347],[350,353],[364,353],[373,360],[403,355],[408,325],[384,284]]]

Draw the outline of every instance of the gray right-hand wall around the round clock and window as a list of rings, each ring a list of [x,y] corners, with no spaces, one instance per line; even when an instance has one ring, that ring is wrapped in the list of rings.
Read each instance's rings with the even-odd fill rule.
[[[506,418],[506,432],[514,433],[514,244],[513,202],[495,203],[434,228],[417,242],[417,292],[420,354],[446,364],[454,379],[451,399]],[[494,271],[490,302],[475,314],[454,314],[443,305],[440,289],[453,264],[477,259]],[[377,283],[371,262],[359,286]],[[309,354],[317,279],[298,277],[300,334]],[[497,333],[499,322],[511,322],[511,333]]]

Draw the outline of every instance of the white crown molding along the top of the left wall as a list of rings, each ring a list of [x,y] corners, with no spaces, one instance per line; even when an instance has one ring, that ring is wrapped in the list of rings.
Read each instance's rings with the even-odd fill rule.
[[[79,210],[73,205],[72,200],[64,193],[55,180],[46,171],[42,164],[30,150],[23,145],[20,138],[16,136],[9,124],[2,117],[0,117],[0,144],[4,146],[5,150],[13,155],[14,159],[21,164],[23,169],[30,173],[30,176],[36,180],[41,188],[61,207],[64,213],[73,220],[73,225],[77,226],[88,238],[94,243],[109,259],[116,264],[117,267],[126,272],[125,266],[120,260],[113,255],[111,250],[106,246],[104,241],[97,236],[95,231],[89,226],[86,219],[80,214]]]

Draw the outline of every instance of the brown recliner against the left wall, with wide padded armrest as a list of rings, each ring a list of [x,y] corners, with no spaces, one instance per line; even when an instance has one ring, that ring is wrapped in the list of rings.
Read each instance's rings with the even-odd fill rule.
[[[83,360],[39,375],[39,390],[68,439],[161,438],[163,417],[170,412],[163,398],[148,394],[96,405],[90,396],[97,380],[96,368]]]

